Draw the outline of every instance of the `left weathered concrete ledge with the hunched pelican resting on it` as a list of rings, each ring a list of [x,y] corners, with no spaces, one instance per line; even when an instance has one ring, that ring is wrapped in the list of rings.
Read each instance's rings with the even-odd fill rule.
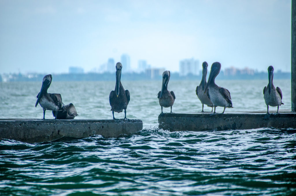
[[[38,143],[63,136],[85,138],[93,135],[117,137],[131,135],[143,128],[141,120],[40,120],[0,119],[0,139]]]

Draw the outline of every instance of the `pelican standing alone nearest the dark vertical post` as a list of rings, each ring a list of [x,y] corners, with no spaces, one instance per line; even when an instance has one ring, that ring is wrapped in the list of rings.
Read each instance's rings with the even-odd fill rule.
[[[269,66],[268,67],[268,85],[264,87],[263,94],[264,94],[264,100],[267,105],[267,113],[268,113],[268,105],[270,106],[277,106],[278,110],[276,111],[276,114],[279,113],[279,106],[283,103],[281,102],[281,99],[283,98],[283,94],[281,93],[281,89],[279,87],[274,87],[273,79],[274,79],[274,67]],[[266,91],[268,89],[268,91]],[[284,104],[283,104],[284,105]]]

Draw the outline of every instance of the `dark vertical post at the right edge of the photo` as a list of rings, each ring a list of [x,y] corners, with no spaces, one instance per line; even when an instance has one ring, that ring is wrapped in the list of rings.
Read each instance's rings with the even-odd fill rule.
[[[291,19],[291,103],[296,112],[296,0],[292,0]]]

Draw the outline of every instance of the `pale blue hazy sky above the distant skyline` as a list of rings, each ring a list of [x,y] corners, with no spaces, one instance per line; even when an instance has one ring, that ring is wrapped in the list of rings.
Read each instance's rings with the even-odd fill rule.
[[[178,71],[193,57],[290,71],[291,1],[0,0],[0,73],[87,72],[123,53],[132,68]]]

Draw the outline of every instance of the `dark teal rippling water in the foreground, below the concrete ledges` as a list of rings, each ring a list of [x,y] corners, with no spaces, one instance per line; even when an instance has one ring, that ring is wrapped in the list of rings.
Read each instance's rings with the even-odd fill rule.
[[[295,134],[270,128],[0,144],[5,195],[296,193]]]

